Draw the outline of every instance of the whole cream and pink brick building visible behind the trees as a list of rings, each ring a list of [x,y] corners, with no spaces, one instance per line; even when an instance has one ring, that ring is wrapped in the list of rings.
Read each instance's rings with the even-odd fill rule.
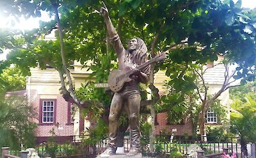
[[[223,83],[224,71],[223,65],[207,70],[204,77],[212,94],[220,89]],[[74,86],[79,88],[81,83],[84,83],[84,79],[92,72],[84,68],[82,69],[82,65],[75,62],[74,70],[71,70],[71,73],[74,79]],[[163,86],[165,79],[164,72],[157,72],[155,75],[154,83],[159,91],[161,91],[161,95],[166,91]],[[79,115],[79,109],[61,97],[60,88],[60,77],[56,70],[53,68],[47,68],[46,70],[31,68],[31,76],[28,77],[26,83],[26,96],[28,97],[28,102],[38,113],[35,119],[35,122],[38,123],[38,127],[35,130],[37,143],[47,141],[47,138],[52,136],[52,129],[54,129],[58,141],[65,142],[72,140],[73,136],[81,134],[84,131],[84,127],[90,126],[90,123],[84,122],[82,116]],[[221,104],[228,105],[228,90],[220,96],[220,100]],[[72,115],[75,112],[77,115]],[[161,134],[162,131],[171,133],[173,129],[177,130],[175,135],[192,135],[193,127],[191,120],[187,120],[183,124],[170,124],[166,118],[166,113],[156,115],[156,135]],[[214,115],[214,111],[208,111],[206,119],[207,123],[218,123],[218,117]]]

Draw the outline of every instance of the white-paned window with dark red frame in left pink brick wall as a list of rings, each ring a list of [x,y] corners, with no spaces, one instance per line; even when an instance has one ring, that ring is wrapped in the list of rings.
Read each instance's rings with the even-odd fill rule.
[[[40,99],[40,124],[56,123],[56,99]]]

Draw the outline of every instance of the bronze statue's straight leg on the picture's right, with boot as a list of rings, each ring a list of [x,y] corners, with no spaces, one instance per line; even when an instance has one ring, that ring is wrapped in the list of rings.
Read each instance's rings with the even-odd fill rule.
[[[131,93],[128,99],[128,117],[131,129],[131,150],[128,155],[140,153],[140,93]]]

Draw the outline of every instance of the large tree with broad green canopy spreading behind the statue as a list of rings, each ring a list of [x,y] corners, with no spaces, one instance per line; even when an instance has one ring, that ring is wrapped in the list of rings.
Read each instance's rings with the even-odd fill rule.
[[[166,103],[170,105],[173,105],[173,102],[183,102],[186,98],[184,96],[192,95],[196,89],[196,75],[191,72],[198,68],[198,64],[204,65],[207,61],[216,59],[218,53],[223,54],[228,61],[237,63],[239,72],[234,75],[236,79],[244,77],[243,83],[246,79],[254,79],[252,66],[255,59],[256,11],[243,10],[241,1],[236,4],[233,1],[225,4],[219,0],[124,0],[105,3],[111,11],[113,24],[122,41],[127,41],[132,36],[140,36],[147,43],[151,57],[159,51],[168,51],[168,59],[163,64],[152,65],[150,88],[154,95],[153,99],[146,103],[152,104],[153,115],[154,103],[159,98],[154,87],[153,74],[160,69],[166,71],[166,76],[170,77],[168,85],[175,90],[175,93],[168,95],[169,100]],[[100,6],[99,1],[38,0],[29,1],[29,4],[13,1],[14,10],[22,8],[20,10],[25,10],[28,15],[40,15],[39,12],[46,10],[55,15],[56,21],[42,23],[40,29],[32,33],[26,32],[21,38],[17,38],[20,43],[13,47],[6,62],[17,63],[24,72],[29,71],[29,67],[36,67],[36,63],[40,68],[51,65],[60,72],[61,91],[67,101],[75,102],[80,107],[90,105],[91,100],[88,99],[91,98],[102,102],[99,91],[91,93],[93,97],[77,97],[68,71],[74,60],[83,65],[90,61],[96,83],[102,83],[107,81],[109,70],[115,67],[115,63],[111,61],[115,61],[116,57],[109,48],[108,35],[105,35],[104,23],[97,11]],[[12,8],[8,5],[6,7],[5,12],[10,13],[9,9]],[[14,13],[20,15],[24,12]],[[56,41],[40,40],[40,33],[47,33],[56,25]],[[65,86],[66,76],[68,88]],[[83,93],[85,89],[83,87],[78,93]],[[107,104],[104,102],[104,106]],[[169,111],[168,106],[166,107],[164,110]]]

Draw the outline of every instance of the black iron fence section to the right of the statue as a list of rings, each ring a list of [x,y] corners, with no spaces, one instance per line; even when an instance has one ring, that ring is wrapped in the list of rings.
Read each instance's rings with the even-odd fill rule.
[[[222,153],[223,148],[228,148],[229,153],[235,153],[237,157],[250,157],[250,155],[255,155],[255,145],[253,145],[253,143],[247,143],[242,147],[240,143],[241,139],[237,137],[223,138],[205,136],[204,138],[201,138],[201,136],[198,136],[196,138],[187,139],[183,136],[174,136],[173,139],[171,139],[170,136],[160,137],[166,140],[158,142],[161,143],[161,152],[164,153],[170,153],[173,149],[175,149],[179,150],[179,152],[183,155],[188,155],[189,146],[191,144],[196,144],[204,150],[205,154]],[[205,141],[201,141],[202,139]],[[157,143],[155,145],[157,145]]]

